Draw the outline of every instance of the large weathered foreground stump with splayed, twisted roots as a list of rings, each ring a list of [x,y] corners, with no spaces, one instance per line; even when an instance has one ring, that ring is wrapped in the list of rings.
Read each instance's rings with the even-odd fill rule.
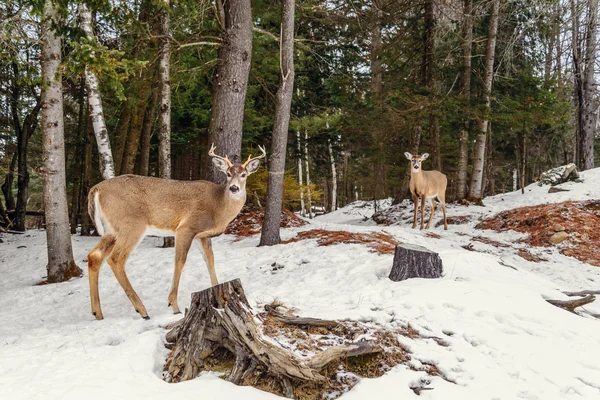
[[[278,317],[289,324],[337,324],[314,318]],[[165,365],[167,380],[171,382],[193,379],[201,371],[213,370],[215,359],[220,359],[220,371],[229,364],[230,371],[225,373],[230,382],[255,386],[259,379],[268,376],[269,385],[278,385],[279,392],[291,398],[298,385],[324,384],[327,378],[321,371],[330,363],[383,351],[377,343],[360,341],[301,358],[263,335],[239,279],[193,293],[189,311],[181,323],[171,327],[166,339],[175,343]]]

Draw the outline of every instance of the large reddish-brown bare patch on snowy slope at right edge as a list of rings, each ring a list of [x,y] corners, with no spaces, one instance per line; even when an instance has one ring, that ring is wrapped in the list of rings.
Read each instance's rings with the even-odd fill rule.
[[[478,229],[497,232],[514,230],[529,234],[522,243],[550,247],[550,237],[557,229],[569,237],[560,244],[566,256],[600,266],[600,200],[566,201],[556,204],[522,207],[503,211],[479,223]],[[526,258],[523,254],[521,257]],[[535,256],[534,256],[535,257]]]

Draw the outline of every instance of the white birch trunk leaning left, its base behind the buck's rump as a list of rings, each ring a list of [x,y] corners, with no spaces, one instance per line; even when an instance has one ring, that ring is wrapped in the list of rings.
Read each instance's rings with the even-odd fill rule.
[[[85,32],[88,40],[94,40],[94,32],[92,31],[92,13],[84,2],[79,3],[78,12],[81,29]],[[110,148],[108,130],[106,129],[106,122],[104,121],[102,97],[100,96],[100,90],[98,89],[98,78],[88,65],[85,66],[85,82],[88,92],[90,118],[94,128],[94,135],[96,136],[98,154],[100,156],[100,172],[104,179],[110,179],[115,176],[115,165]]]

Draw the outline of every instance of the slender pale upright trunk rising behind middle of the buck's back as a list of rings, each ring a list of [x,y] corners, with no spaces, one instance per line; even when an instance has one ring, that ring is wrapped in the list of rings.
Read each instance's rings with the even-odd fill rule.
[[[160,177],[171,178],[171,44],[169,30],[169,2],[160,11],[160,50],[158,62],[158,79],[160,81],[159,133],[158,133],[158,167]]]

